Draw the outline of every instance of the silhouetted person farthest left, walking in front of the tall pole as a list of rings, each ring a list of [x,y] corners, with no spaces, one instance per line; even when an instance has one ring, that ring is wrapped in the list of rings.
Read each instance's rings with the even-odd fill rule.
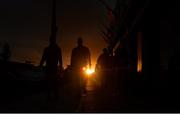
[[[62,55],[61,49],[56,44],[56,40],[50,38],[50,44],[44,49],[40,67],[45,65],[46,81],[48,85],[48,97],[51,98],[51,94],[56,98],[58,97],[58,68],[62,70]]]

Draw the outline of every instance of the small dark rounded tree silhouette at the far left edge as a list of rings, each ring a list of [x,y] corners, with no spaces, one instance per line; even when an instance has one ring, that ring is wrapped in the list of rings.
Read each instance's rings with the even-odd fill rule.
[[[8,61],[11,57],[11,50],[8,43],[5,43],[2,48],[1,58],[3,61]]]

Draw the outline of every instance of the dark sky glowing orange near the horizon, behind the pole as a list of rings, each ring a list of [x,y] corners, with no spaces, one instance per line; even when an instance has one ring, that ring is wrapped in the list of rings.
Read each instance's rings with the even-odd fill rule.
[[[105,0],[111,7],[115,1]],[[12,61],[39,64],[48,46],[51,27],[51,0],[1,0],[0,47],[10,44]],[[62,49],[63,64],[70,63],[71,50],[81,36],[91,51],[92,64],[106,47],[100,35],[107,21],[105,7],[98,0],[57,0],[57,43]]]

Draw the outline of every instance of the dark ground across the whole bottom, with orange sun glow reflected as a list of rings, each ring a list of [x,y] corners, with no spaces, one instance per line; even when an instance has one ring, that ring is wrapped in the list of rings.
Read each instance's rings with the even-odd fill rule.
[[[179,108],[166,105],[167,97],[157,97],[157,92],[147,94],[142,87],[135,85],[131,83],[126,92],[117,92],[111,86],[101,87],[92,78],[87,83],[85,96],[77,97],[72,91],[72,85],[67,84],[64,85],[65,89],[60,88],[58,100],[47,102],[47,95],[39,84],[23,83],[19,86],[25,89],[11,89],[8,96],[1,95],[0,112],[174,112]]]

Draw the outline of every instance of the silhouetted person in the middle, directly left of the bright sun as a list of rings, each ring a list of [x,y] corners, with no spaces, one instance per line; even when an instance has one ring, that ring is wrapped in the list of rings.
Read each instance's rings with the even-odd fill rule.
[[[71,53],[71,67],[75,74],[74,78],[80,84],[80,93],[86,93],[86,78],[83,75],[83,68],[91,67],[90,51],[87,47],[83,46],[82,38],[78,38],[77,44],[78,46]]]

